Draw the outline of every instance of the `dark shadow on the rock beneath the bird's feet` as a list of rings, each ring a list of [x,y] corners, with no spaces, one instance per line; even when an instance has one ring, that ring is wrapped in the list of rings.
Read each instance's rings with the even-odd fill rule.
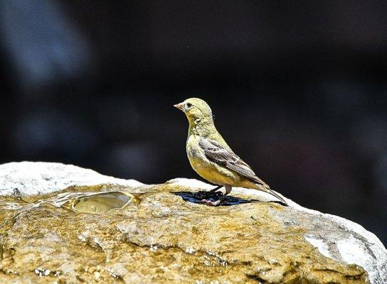
[[[198,192],[172,192],[174,195],[178,195],[183,198],[186,202],[192,202],[197,204],[204,204],[203,200],[210,200],[215,202],[222,197],[221,192],[207,192],[207,191],[198,191]],[[250,203],[252,200],[244,200],[243,198],[234,197],[234,196],[226,196],[225,200],[219,204],[219,206],[230,206],[230,205],[238,205],[243,203]]]

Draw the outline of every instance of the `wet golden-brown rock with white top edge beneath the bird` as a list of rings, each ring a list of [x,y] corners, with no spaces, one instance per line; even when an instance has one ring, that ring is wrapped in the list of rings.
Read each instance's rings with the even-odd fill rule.
[[[235,205],[195,203],[208,188],[0,165],[0,283],[387,283],[387,251],[358,224],[291,200],[250,202],[271,197],[241,188],[228,200]],[[119,206],[83,213],[95,201]]]

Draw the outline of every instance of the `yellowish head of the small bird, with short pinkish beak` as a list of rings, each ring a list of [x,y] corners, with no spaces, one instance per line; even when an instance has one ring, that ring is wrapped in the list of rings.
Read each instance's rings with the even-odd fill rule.
[[[175,104],[174,107],[186,114],[189,124],[191,125],[213,123],[211,108],[203,101],[203,99],[186,99],[180,104]]]

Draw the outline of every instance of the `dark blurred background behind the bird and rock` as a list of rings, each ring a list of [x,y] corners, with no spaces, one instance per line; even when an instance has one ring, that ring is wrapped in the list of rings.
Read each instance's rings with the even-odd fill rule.
[[[387,244],[386,1],[2,0],[1,163],[198,178],[201,97],[275,190]]]

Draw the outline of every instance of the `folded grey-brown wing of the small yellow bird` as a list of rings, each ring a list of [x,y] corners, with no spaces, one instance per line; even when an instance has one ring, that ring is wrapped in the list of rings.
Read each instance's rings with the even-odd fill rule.
[[[204,154],[208,160],[223,165],[226,168],[233,170],[240,175],[243,175],[243,177],[247,178],[248,180],[252,180],[253,182],[256,182],[267,188],[269,187],[265,182],[263,182],[263,180],[255,175],[248,164],[243,162],[243,160],[239,158],[238,155],[236,155],[233,151],[222,146],[222,144],[218,141],[209,138],[201,138],[199,141],[199,146],[203,149]]]

